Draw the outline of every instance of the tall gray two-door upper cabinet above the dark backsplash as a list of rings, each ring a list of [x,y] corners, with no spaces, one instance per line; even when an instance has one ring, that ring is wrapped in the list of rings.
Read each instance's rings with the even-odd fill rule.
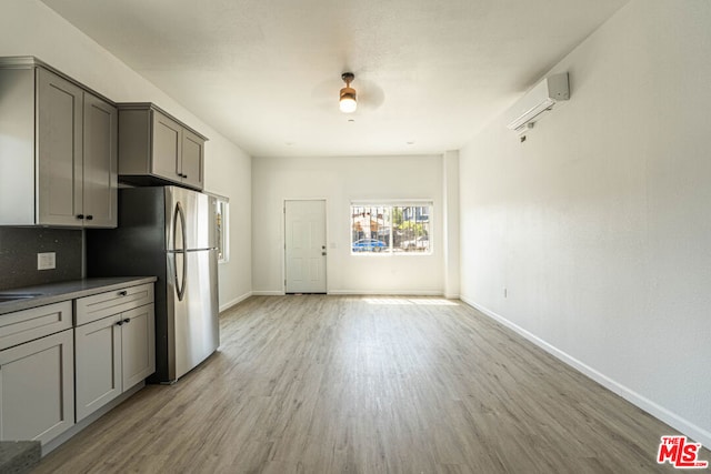
[[[0,225],[117,225],[118,111],[33,58],[0,60]]]

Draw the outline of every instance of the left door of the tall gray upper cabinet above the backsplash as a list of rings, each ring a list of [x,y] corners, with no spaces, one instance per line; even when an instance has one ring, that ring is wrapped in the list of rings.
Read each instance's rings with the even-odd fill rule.
[[[37,101],[37,222],[81,225],[83,91],[38,68]]]

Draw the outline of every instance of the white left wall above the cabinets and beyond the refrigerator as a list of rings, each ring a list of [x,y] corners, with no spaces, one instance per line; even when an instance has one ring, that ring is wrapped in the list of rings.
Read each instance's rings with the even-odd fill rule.
[[[232,260],[220,265],[220,306],[250,294],[250,157],[37,0],[2,1],[0,56],[34,56],[116,102],[154,102],[207,135],[206,191],[230,198],[240,225]]]

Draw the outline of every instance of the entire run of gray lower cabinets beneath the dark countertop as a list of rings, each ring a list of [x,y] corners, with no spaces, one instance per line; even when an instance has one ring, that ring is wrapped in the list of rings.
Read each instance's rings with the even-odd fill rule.
[[[152,283],[2,314],[0,441],[46,445],[136,387],[156,371],[154,324]]]

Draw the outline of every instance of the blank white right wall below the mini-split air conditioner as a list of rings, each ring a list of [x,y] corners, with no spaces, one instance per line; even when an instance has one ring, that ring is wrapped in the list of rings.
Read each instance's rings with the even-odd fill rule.
[[[711,2],[633,0],[524,143],[460,153],[462,297],[705,445],[710,54]]]

